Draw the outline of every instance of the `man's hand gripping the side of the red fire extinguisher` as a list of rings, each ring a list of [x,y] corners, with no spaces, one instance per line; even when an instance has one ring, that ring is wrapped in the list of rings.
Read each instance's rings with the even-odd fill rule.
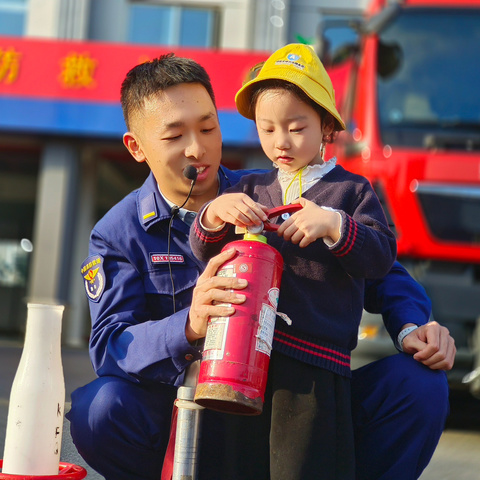
[[[245,295],[232,291],[247,286],[247,281],[235,277],[216,277],[218,268],[236,253],[234,248],[210,259],[193,290],[185,335],[190,343],[205,337],[209,317],[230,317],[235,313],[231,304],[241,304]]]

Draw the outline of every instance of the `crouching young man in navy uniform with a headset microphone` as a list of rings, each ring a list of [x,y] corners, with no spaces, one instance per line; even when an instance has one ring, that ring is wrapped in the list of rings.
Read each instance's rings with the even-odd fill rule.
[[[107,480],[153,480],[160,478],[176,387],[201,358],[208,317],[231,315],[244,301],[228,290],[245,285],[214,276],[234,252],[207,265],[191,253],[189,213],[244,172],[220,166],[214,94],[192,60],[167,55],[138,65],[121,97],[124,144],[151,174],[92,231],[82,275],[92,271],[85,285],[98,378],[73,393],[68,418],[78,451]],[[198,174],[190,196],[189,165]],[[427,323],[430,303],[398,263],[366,290],[366,307],[383,314],[392,338],[406,326],[419,327],[403,339],[413,357],[395,355],[354,372],[358,478],[417,478],[448,412],[442,370],[453,365],[454,342],[444,327]],[[228,461],[238,439],[224,433],[239,418],[248,420],[204,411],[200,479],[257,479],[248,462],[237,469]]]

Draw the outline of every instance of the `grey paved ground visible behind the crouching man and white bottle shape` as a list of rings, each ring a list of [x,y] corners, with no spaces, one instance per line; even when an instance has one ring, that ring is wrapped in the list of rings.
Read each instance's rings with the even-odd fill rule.
[[[11,341],[0,340],[0,452],[2,456],[8,398],[22,346]],[[71,392],[93,379],[94,374],[85,349],[64,348],[62,358],[66,409],[68,409]],[[478,480],[480,478],[480,402],[455,400],[452,410],[452,421],[449,422],[435,455],[420,480]],[[89,468],[78,455],[70,437],[68,421],[64,422],[61,460],[86,468],[87,480],[103,480],[103,477]]]

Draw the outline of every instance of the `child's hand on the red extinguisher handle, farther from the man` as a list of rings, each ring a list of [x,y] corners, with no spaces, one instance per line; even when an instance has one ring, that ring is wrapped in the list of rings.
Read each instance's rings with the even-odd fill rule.
[[[309,200],[299,198],[303,208],[283,222],[277,234],[287,241],[306,247],[318,238],[329,237],[332,243],[340,238],[340,221],[338,213],[325,210]]]

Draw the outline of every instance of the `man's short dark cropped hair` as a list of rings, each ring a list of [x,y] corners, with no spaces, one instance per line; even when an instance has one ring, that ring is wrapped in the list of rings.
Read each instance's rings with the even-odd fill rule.
[[[140,110],[145,99],[169,87],[182,83],[199,83],[207,90],[215,106],[215,94],[206,70],[191,58],[177,57],[174,53],[161,55],[133,67],[120,89],[123,117],[130,128],[132,114]]]

